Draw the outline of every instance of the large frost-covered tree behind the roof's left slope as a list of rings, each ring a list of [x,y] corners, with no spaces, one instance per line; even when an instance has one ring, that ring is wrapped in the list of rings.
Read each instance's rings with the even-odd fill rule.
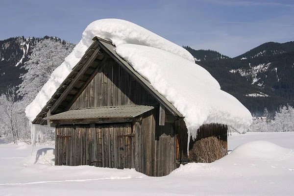
[[[29,60],[25,62],[24,68],[27,73],[21,75],[24,81],[19,85],[18,90],[26,104],[36,97],[53,70],[72,52],[73,47],[73,44],[50,39],[36,43]]]

